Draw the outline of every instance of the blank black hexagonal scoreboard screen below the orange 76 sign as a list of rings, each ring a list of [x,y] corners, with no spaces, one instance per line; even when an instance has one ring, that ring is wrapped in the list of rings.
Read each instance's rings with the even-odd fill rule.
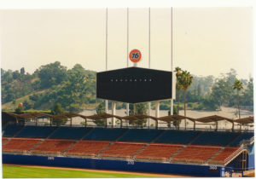
[[[172,98],[172,72],[140,67],[97,72],[96,97],[138,103]]]

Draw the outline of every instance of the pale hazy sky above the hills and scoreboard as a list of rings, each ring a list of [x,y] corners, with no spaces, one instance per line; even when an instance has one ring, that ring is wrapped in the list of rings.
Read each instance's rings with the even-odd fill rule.
[[[130,9],[129,51],[148,67],[148,9]],[[106,9],[0,11],[1,67],[34,72],[54,61],[105,70]],[[108,9],[108,69],[126,67],[126,9]],[[151,68],[171,70],[171,9],[151,9]],[[132,66],[131,61],[129,66]],[[174,8],[173,66],[195,75],[253,75],[252,8]]]

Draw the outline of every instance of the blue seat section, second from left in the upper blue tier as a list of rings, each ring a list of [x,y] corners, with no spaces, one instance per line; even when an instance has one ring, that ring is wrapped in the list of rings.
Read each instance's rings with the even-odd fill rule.
[[[16,137],[46,138],[55,128],[53,126],[26,125]]]

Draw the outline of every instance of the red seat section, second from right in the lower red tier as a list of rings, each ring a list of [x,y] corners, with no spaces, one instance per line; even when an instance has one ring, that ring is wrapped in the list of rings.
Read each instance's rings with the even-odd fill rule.
[[[220,147],[190,145],[184,147],[179,153],[174,155],[171,160],[204,163],[207,159],[211,158],[214,153],[217,153],[219,149]]]

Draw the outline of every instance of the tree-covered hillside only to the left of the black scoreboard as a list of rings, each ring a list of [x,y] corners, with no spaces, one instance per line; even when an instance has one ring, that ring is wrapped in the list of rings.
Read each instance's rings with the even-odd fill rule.
[[[96,103],[96,72],[77,64],[67,70],[55,61],[25,73],[1,69],[2,107],[11,110],[19,102],[24,110],[50,110],[60,103],[66,111],[79,112],[84,105]],[[12,105],[5,105],[12,104]]]

